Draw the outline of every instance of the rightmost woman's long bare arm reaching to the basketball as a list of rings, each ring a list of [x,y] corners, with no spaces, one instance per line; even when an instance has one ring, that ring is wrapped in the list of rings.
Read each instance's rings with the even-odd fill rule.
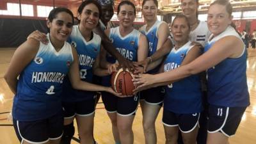
[[[202,54],[187,65],[182,65],[170,72],[164,72],[156,75],[139,75],[134,79],[134,84],[147,86],[153,83],[162,83],[167,81],[176,81],[192,74],[198,74],[207,68],[214,67],[226,58],[237,58],[244,51],[244,45],[236,36],[225,36],[221,38],[209,51]]]

